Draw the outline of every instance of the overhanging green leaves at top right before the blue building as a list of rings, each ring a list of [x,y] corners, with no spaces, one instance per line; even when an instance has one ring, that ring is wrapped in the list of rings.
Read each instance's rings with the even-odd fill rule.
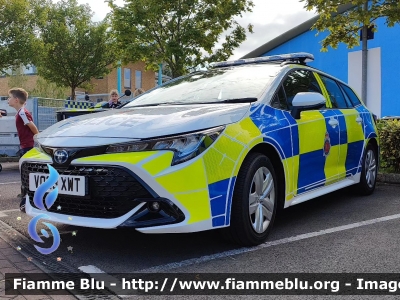
[[[398,0],[300,0],[305,3],[307,10],[315,9],[320,15],[313,29],[319,32],[329,31],[329,35],[322,41],[322,51],[328,46],[336,49],[339,43],[347,44],[348,48],[359,45],[359,31],[363,25],[370,26],[378,18],[385,18],[386,25],[394,26],[400,21],[400,2]],[[364,4],[368,2],[368,10]],[[341,5],[349,5],[349,10],[338,13]],[[375,24],[374,31],[377,31]]]

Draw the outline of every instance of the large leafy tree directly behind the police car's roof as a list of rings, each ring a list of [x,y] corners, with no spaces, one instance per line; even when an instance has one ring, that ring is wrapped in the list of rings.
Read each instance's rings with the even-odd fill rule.
[[[125,61],[143,60],[148,69],[166,63],[172,77],[207,62],[227,60],[246,39],[235,17],[251,11],[251,0],[109,0],[112,28]],[[252,32],[252,25],[247,31]],[[220,36],[228,32],[217,47]]]

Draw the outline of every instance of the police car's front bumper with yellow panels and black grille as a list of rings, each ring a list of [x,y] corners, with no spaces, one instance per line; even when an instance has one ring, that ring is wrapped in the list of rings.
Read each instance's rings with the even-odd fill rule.
[[[196,232],[226,226],[226,216],[221,213],[226,211],[228,193],[222,191],[224,195],[217,201],[210,199],[221,192],[221,186],[213,184],[209,191],[203,157],[176,166],[171,166],[172,158],[171,151],[104,154],[78,158],[60,168],[49,155],[33,149],[20,160],[21,181],[27,193],[26,213],[46,213],[49,221],[62,224],[132,227],[145,233]],[[84,175],[88,193],[59,194],[48,211],[35,207],[29,173],[48,173],[47,164],[59,174]],[[225,189],[228,181],[224,181]],[[154,201],[159,210],[151,209]],[[219,223],[213,218],[216,214]]]

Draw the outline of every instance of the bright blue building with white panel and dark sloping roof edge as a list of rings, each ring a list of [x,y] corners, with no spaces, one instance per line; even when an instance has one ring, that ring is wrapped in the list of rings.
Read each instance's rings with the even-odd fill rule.
[[[311,26],[313,18],[248,53],[243,58],[269,56],[293,52],[308,52],[315,60],[308,65],[333,75],[348,83],[361,96],[361,42],[348,49],[341,44],[338,49],[321,52],[321,41],[327,33],[316,35]],[[400,116],[400,26],[387,27],[384,19],[375,21],[378,31],[368,40],[368,86],[366,105],[378,117]]]

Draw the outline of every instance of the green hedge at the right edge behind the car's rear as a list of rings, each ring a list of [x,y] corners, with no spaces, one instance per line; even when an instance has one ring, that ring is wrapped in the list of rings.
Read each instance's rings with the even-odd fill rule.
[[[400,120],[378,122],[380,139],[380,166],[389,172],[400,171]]]

